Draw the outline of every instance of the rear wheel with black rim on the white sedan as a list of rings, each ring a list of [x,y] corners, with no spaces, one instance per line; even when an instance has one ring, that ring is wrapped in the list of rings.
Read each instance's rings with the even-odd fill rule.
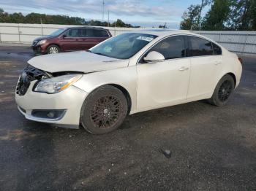
[[[234,79],[227,74],[219,80],[217,86],[215,87],[214,94],[208,100],[208,102],[214,106],[225,106],[227,101],[229,101],[230,95],[233,93],[234,89]]]

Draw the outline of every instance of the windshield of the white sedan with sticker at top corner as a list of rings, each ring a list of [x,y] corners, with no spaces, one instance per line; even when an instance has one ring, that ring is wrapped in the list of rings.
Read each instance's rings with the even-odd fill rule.
[[[91,48],[90,52],[111,58],[128,59],[155,38],[157,38],[157,36],[151,34],[120,34]]]

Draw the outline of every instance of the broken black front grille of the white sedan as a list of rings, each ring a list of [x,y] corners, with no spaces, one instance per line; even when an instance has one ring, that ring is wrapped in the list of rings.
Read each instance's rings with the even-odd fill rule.
[[[40,79],[42,76],[47,76],[44,71],[34,68],[33,66],[27,66],[20,74],[18,84],[16,87],[16,93],[18,95],[25,95],[29,89],[30,82],[35,79]]]

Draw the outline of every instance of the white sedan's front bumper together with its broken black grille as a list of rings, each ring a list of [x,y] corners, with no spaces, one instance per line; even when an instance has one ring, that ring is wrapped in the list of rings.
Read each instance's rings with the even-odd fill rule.
[[[20,113],[28,120],[64,128],[79,128],[80,110],[88,93],[73,85],[59,93],[35,92],[33,87],[39,80],[37,77],[44,74],[35,68],[32,73],[29,77],[19,79],[17,85],[15,101]]]

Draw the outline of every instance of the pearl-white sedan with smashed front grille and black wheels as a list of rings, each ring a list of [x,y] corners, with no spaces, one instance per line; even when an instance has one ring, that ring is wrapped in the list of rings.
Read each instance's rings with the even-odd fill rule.
[[[208,99],[227,104],[241,78],[236,54],[188,31],[135,31],[88,51],[28,61],[15,100],[29,120],[108,133],[128,114]]]

